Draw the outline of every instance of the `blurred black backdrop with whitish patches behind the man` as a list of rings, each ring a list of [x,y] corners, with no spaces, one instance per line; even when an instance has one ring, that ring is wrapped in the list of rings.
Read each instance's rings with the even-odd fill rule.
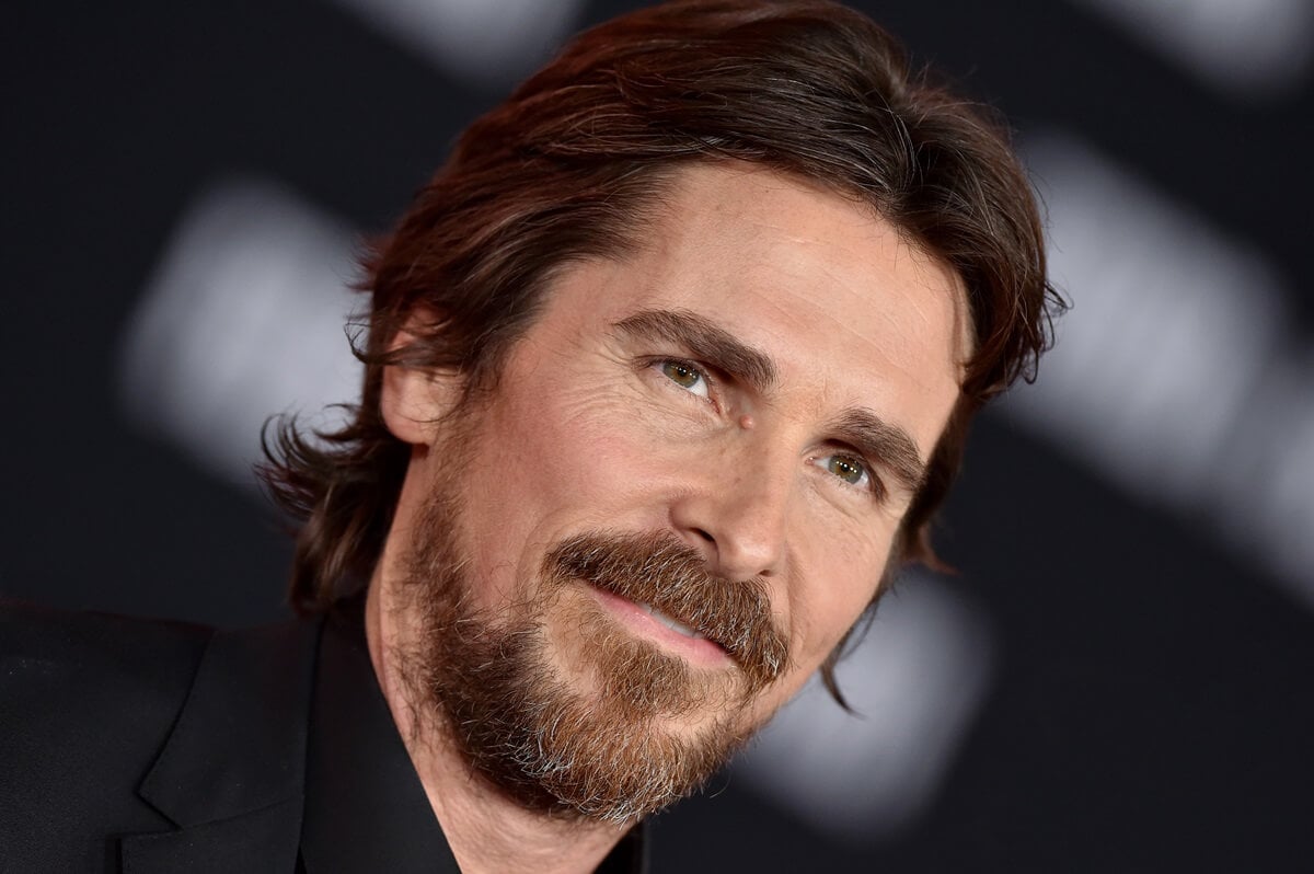
[[[0,28],[0,595],[277,619],[261,419],[351,400],[360,234],[608,0]],[[1314,5],[853,3],[1013,122],[1075,309],[841,682],[657,870],[1314,870]],[[331,415],[331,414],[330,414]]]

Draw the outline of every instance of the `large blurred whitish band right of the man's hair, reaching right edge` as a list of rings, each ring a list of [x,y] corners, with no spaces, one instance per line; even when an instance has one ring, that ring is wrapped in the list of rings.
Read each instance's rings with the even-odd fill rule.
[[[1026,156],[1075,308],[1001,409],[1314,607],[1314,350],[1275,271],[1079,139]]]

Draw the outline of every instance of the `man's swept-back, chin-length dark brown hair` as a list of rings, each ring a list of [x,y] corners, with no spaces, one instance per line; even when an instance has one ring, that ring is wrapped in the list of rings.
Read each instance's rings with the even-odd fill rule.
[[[283,421],[267,446],[272,494],[304,522],[298,611],[359,590],[382,549],[410,456],[382,421],[384,368],[456,368],[468,392],[487,388],[556,268],[632,248],[669,171],[720,159],[870,204],[962,279],[974,354],[896,543],[899,560],[936,563],[930,519],[968,421],[1034,376],[1060,306],[1026,176],[991,113],[913,72],[858,12],[828,0],[685,0],[579,35],[465,131],[365,259],[372,301],[353,419],[318,440]],[[417,306],[440,322],[389,348]],[[823,670],[832,690],[834,657]]]

